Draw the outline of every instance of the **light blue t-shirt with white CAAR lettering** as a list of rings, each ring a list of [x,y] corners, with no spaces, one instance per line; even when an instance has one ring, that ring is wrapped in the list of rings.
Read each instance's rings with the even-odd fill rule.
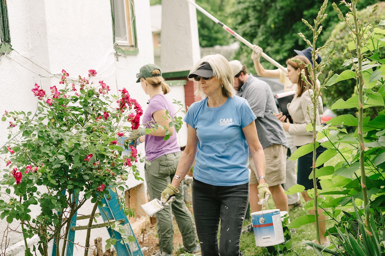
[[[256,119],[244,98],[234,96],[217,108],[208,98],[193,103],[184,121],[196,129],[194,178],[214,186],[248,183],[249,146],[242,128]]]

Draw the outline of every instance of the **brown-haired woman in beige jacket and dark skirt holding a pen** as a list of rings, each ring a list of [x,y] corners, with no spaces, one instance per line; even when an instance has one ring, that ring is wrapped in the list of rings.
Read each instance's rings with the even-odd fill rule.
[[[291,135],[293,135],[293,144],[299,148],[300,146],[306,145],[313,141],[313,133],[306,131],[306,126],[311,123],[311,119],[313,119],[313,103],[311,102],[311,97],[313,97],[313,86],[309,86],[307,88],[305,82],[301,78],[301,70],[305,70],[305,76],[309,77],[310,72],[306,68],[306,66],[301,62],[293,62],[293,59],[300,59],[301,62],[307,65],[309,60],[306,57],[301,55],[297,55],[289,60],[287,60],[286,64],[288,72],[286,76],[292,83],[297,84],[297,91],[294,95],[291,103],[288,104],[288,111],[293,120],[293,123],[289,123],[286,116],[282,115],[282,113],[278,114],[277,118],[281,120],[283,125],[283,130],[287,131]],[[310,84],[312,82],[309,80]],[[318,87],[318,86],[316,86]],[[317,90],[318,88],[316,88]],[[322,100],[321,97],[318,97],[318,107],[316,110],[316,125],[321,124],[321,115],[323,114]],[[326,139],[326,138],[324,138]],[[319,140],[319,142],[323,142],[325,140]],[[322,146],[318,146],[316,153],[317,157],[326,149]],[[297,183],[303,185],[305,187],[305,192],[302,192],[302,196],[305,201],[310,201],[312,198],[307,194],[307,190],[314,188],[313,180],[309,179],[309,175],[312,171],[313,166],[313,152],[310,152],[304,156],[298,158],[298,178]],[[318,166],[318,168],[323,167],[323,165]],[[317,188],[321,189],[321,185],[317,180]],[[320,241],[321,245],[328,246],[329,240],[324,236],[326,227],[325,227],[325,216],[322,213],[322,209],[318,211],[320,214]],[[310,210],[310,214],[314,214],[314,210]],[[316,242],[316,240],[314,241]],[[309,247],[311,248],[311,247]]]

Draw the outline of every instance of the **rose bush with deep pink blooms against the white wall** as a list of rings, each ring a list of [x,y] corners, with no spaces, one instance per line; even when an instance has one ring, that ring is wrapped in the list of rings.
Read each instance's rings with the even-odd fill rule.
[[[60,76],[56,84],[32,86],[38,100],[35,115],[5,111],[2,116],[12,140],[1,148],[9,171],[1,184],[13,190],[6,190],[11,199],[0,198],[0,214],[8,222],[23,223],[25,239],[38,235],[42,254],[77,206],[85,200],[98,203],[110,188],[126,190],[130,175],[142,180],[137,164],[145,161],[134,147],[122,155],[119,141],[139,127],[143,114],[126,88],[111,93],[104,81],[92,81],[97,76],[92,69],[75,80],[64,69]],[[75,191],[80,191],[77,204]],[[31,204],[41,208],[33,219]],[[66,237],[65,232],[60,235]]]

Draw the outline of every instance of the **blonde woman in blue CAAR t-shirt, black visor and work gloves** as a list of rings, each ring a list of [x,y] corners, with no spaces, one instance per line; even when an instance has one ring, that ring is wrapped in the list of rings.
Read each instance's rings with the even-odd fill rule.
[[[188,77],[197,82],[195,94],[205,98],[187,111],[186,149],[161,198],[166,202],[179,192],[177,188],[196,158],[192,209],[202,255],[243,255],[239,240],[249,198],[249,151],[258,174],[260,201],[270,194],[256,116],[245,99],[235,96],[234,76],[222,55],[205,56],[191,70]]]

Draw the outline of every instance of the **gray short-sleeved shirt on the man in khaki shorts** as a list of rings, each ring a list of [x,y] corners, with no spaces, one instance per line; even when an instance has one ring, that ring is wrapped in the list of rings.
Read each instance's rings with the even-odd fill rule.
[[[257,117],[255,124],[263,149],[273,144],[288,147],[285,131],[282,128],[281,122],[275,115],[269,112],[269,110],[271,110],[274,113],[278,113],[278,108],[275,104],[270,86],[265,81],[259,80],[250,74],[249,78],[238,91],[238,96],[248,101],[251,110],[253,110],[254,115]]]

